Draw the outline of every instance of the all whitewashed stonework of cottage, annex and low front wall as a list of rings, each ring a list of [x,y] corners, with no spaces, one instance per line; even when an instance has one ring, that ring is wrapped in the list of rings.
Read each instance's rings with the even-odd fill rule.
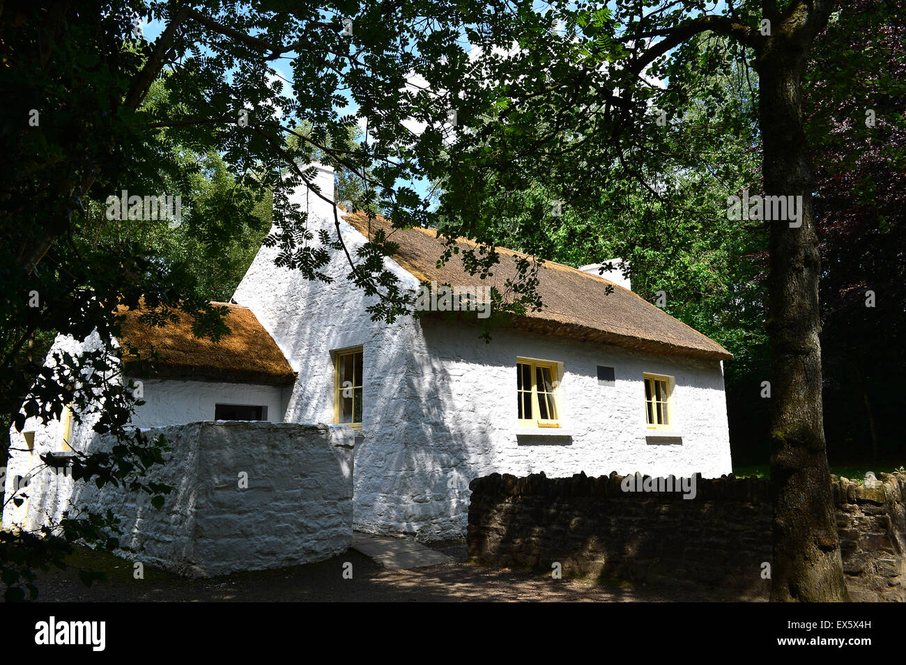
[[[319,167],[316,183],[333,198],[331,169]],[[313,232],[335,233],[332,205],[314,195],[297,195],[296,201],[307,207]],[[355,256],[366,239],[342,219],[340,229]],[[717,360],[504,328],[486,344],[477,325],[433,318],[375,322],[366,309],[371,299],[346,279],[350,266],[342,252],[334,252],[323,269],[334,278],[330,284],[275,266],[275,254],[261,248],[233,301],[251,309],[274,337],[298,373],[295,384],[146,380],[142,398],[147,404],[133,424],[163,426],[180,438],[179,454],[166,470],[179,487],[179,499],[168,503],[160,517],[134,503],[141,499],[80,496],[124,511],[150,561],[212,575],[332,556],[342,551],[337,549],[342,543],[348,545],[343,538],[352,527],[422,540],[464,537],[468,482],[493,472],[716,477],[731,470],[723,370]],[[387,266],[406,288],[419,289],[419,280],[398,263],[388,260]],[[66,338],[54,344],[71,351],[80,347]],[[333,423],[333,354],[351,347],[362,347],[364,356],[361,436],[346,426],[312,424]],[[563,427],[555,435],[516,426],[517,357],[559,364]],[[597,366],[614,368],[614,385],[599,385]],[[668,436],[652,436],[646,429],[643,373],[673,377]],[[273,423],[209,423],[215,404],[266,405]],[[275,424],[280,421],[294,424]],[[169,427],[179,423],[191,424]],[[77,449],[98,444],[91,424],[73,432]],[[61,450],[62,429],[62,423],[26,423],[25,431],[34,431],[35,452],[14,452],[7,491],[40,452]],[[14,443],[24,448],[22,435],[14,433]],[[262,484],[244,495],[240,509],[231,492],[236,473],[246,468]],[[306,473],[299,485],[300,474]],[[31,488],[25,507],[7,504],[5,526],[34,527],[68,507],[70,479],[42,483]],[[262,526],[250,511],[269,521]],[[246,538],[236,538],[246,533],[247,519],[259,531],[275,529],[254,552],[243,549]]]

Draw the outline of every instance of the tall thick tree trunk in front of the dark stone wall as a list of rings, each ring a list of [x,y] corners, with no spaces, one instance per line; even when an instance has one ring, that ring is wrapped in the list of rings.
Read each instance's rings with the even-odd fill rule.
[[[769,226],[767,331],[771,342],[772,601],[846,601],[821,400],[820,258],[812,207],[801,79],[805,46],[775,39],[758,54],[765,194],[793,195],[802,225]]]

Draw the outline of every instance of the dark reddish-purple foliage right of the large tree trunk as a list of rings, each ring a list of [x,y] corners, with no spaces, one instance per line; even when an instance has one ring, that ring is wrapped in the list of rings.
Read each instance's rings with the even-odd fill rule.
[[[838,460],[903,450],[891,395],[906,381],[904,14],[900,0],[847,5],[805,81],[822,237],[825,429]]]

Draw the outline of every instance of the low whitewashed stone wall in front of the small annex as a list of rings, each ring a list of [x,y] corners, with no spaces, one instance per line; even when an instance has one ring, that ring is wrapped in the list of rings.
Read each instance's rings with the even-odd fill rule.
[[[77,506],[111,508],[121,543],[140,561],[184,575],[222,575],[320,561],[352,540],[352,455],[348,427],[265,422],[205,422],[153,428],[171,442],[155,480],[174,488],[164,507],[147,495],[75,482],[49,470],[7,504],[5,527],[34,528]],[[105,444],[102,437],[92,449]],[[36,450],[34,461],[43,452]],[[26,455],[11,463],[24,468]],[[18,465],[18,466],[17,466]],[[240,479],[247,474],[247,489]],[[11,479],[7,488],[12,489]]]

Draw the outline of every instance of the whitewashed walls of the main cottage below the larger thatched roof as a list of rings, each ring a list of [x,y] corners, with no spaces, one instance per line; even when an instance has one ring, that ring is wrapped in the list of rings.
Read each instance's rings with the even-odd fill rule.
[[[323,171],[322,192],[329,185]],[[305,204],[304,198],[300,203]],[[334,233],[333,209],[309,199],[309,224]],[[350,253],[365,238],[341,221]],[[309,281],[278,268],[263,247],[233,299],[255,312],[299,373],[287,421],[333,422],[333,352],[363,348],[363,440],[356,445],[354,524],[372,533],[432,540],[463,537],[468,482],[492,472],[548,476],[641,471],[716,477],[731,470],[724,380],[718,360],[658,356],[431,319],[371,321],[370,299],[345,279],[339,252]],[[387,265],[411,290],[419,281]],[[572,436],[517,435],[516,357],[562,364],[560,406]],[[615,385],[598,385],[596,367],[612,366]],[[644,420],[642,374],[675,378],[674,434],[652,437]]]

